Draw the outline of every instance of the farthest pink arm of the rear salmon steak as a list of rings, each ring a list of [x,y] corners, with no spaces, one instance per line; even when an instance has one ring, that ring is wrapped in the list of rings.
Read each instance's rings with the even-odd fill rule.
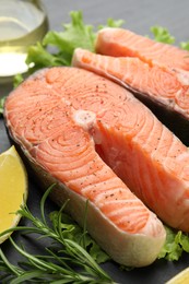
[[[96,52],[113,57],[137,57],[150,66],[189,71],[189,51],[132,33],[125,28],[103,28],[97,34]]]

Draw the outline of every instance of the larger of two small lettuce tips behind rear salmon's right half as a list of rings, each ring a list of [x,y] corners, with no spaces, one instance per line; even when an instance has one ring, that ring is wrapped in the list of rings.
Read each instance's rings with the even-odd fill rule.
[[[164,43],[164,44],[174,44],[175,43],[175,37],[173,37],[169,32],[167,31],[167,28],[155,25],[152,26],[150,28],[150,31],[152,32],[153,36],[154,36],[154,40],[160,42],[160,43]]]

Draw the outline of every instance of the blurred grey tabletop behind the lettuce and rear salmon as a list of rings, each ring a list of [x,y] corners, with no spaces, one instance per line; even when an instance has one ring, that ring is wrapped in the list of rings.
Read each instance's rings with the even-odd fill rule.
[[[150,26],[162,25],[178,42],[189,39],[189,1],[188,0],[44,0],[50,27],[61,29],[61,23],[70,21],[69,12],[82,10],[84,21],[98,25],[107,17],[125,20],[125,27],[149,34]]]

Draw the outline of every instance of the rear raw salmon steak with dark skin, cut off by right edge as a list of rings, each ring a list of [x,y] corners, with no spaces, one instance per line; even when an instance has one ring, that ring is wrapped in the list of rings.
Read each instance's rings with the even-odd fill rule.
[[[123,28],[99,31],[96,52],[127,58],[111,59],[108,66],[107,59],[106,66],[103,59],[98,66],[91,64],[93,71],[101,69],[109,79],[129,87],[189,145],[189,52]]]

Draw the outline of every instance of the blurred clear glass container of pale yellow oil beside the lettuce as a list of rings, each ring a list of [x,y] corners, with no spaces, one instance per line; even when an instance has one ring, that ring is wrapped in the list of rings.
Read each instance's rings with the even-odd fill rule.
[[[42,40],[47,29],[42,1],[0,0],[0,83],[27,71],[27,48]]]

